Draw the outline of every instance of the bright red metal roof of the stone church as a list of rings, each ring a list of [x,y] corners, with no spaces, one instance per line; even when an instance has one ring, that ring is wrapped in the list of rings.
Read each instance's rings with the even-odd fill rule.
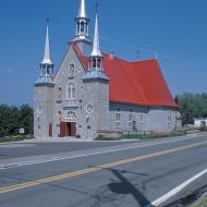
[[[73,42],[87,70],[88,59]],[[113,102],[178,107],[167,86],[157,60],[129,62],[104,53],[104,70],[109,77],[109,100]]]

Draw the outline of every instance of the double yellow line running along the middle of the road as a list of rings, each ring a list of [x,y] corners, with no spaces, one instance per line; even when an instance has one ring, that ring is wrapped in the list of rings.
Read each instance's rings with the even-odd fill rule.
[[[207,144],[207,141],[196,143],[196,144],[186,145],[186,146],[183,146],[183,147],[176,147],[176,148],[172,148],[172,149],[167,149],[167,150],[162,150],[162,151],[158,151],[158,153],[154,153],[154,154],[147,154],[147,155],[139,156],[139,157],[133,157],[133,158],[123,159],[123,160],[119,160],[119,161],[114,161],[114,162],[109,162],[109,163],[100,165],[100,166],[97,166],[97,167],[92,167],[92,168],[87,168],[87,169],[83,169],[83,170],[77,170],[77,171],[74,171],[74,172],[69,172],[69,173],[48,176],[48,178],[45,178],[45,179],[39,179],[39,180],[31,181],[31,182],[20,183],[20,184],[15,184],[15,185],[11,185],[11,186],[5,186],[5,187],[0,188],[0,194],[14,192],[14,191],[23,190],[23,188],[27,188],[27,187],[33,187],[33,186],[40,185],[40,184],[61,181],[63,179],[69,179],[69,178],[77,176],[77,175],[84,175],[84,174],[95,172],[95,171],[98,171],[98,170],[101,170],[101,169],[111,168],[111,167],[121,166],[121,165],[126,165],[126,163],[130,163],[130,162],[139,161],[139,160],[147,159],[147,158],[154,158],[154,157],[158,157],[158,156],[162,156],[162,155],[168,155],[168,154],[181,151],[181,150],[184,150],[184,149],[190,149],[190,148],[193,148],[193,147],[198,147],[198,146],[202,146],[202,145],[205,145],[205,144]]]

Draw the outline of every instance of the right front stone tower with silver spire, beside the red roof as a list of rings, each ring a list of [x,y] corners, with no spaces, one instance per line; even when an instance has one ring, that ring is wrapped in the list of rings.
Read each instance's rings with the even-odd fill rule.
[[[92,137],[95,138],[100,131],[109,129],[109,78],[104,71],[104,56],[99,46],[97,14],[93,51],[88,57],[88,71],[83,77],[83,82],[87,92],[85,100],[87,106],[94,109],[94,113],[88,113],[88,126]]]

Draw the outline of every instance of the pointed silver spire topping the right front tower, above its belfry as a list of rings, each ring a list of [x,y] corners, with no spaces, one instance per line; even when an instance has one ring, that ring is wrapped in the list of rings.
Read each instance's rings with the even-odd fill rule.
[[[95,32],[94,32],[94,46],[92,57],[102,57],[100,52],[100,45],[99,45],[99,33],[98,33],[98,16],[96,13],[96,22],[95,22]]]

